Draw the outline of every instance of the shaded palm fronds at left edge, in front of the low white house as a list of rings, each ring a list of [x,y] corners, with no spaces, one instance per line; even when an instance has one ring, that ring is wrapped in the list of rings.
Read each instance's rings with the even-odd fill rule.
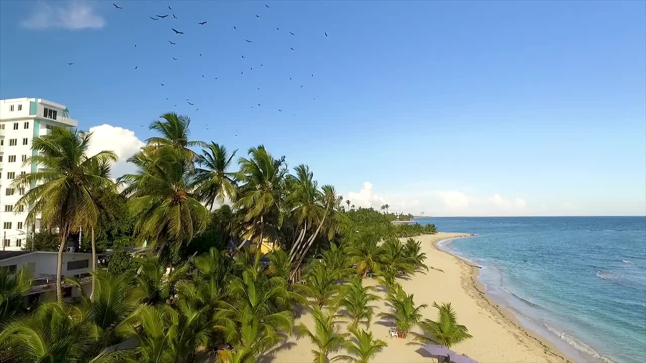
[[[0,267],[0,327],[9,317],[17,316],[23,311],[23,300],[32,286],[33,274],[26,265],[18,271],[9,267]]]

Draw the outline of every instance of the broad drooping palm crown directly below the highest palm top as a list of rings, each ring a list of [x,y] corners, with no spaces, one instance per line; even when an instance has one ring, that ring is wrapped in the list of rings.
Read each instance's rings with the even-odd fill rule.
[[[135,233],[158,249],[158,256],[167,244],[177,251],[209,220],[209,211],[192,186],[193,162],[172,149],[143,151],[130,161],[138,170],[122,176],[120,182],[126,185],[122,193],[130,197]]]

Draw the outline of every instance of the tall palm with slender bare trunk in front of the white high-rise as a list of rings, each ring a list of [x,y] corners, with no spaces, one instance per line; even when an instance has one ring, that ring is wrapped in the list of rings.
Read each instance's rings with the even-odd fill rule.
[[[26,224],[36,223],[57,228],[59,234],[56,269],[56,296],[63,301],[61,290],[63,251],[67,236],[81,227],[90,229],[99,221],[100,198],[96,191],[116,192],[116,185],[105,176],[96,174],[96,165],[117,160],[112,151],[103,150],[87,156],[91,132],[57,127],[51,134],[34,138],[36,153],[25,165],[39,165],[35,172],[22,174],[12,187],[31,189],[16,203],[16,210],[28,209]]]

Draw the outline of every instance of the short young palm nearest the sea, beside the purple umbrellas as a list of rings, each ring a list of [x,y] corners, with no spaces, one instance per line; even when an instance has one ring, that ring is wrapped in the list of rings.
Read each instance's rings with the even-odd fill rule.
[[[437,308],[437,321],[426,319],[420,322],[419,325],[424,329],[428,336],[420,336],[415,340],[422,342],[432,342],[435,344],[443,344],[446,347],[451,347],[463,340],[471,338],[466,326],[457,324],[455,311],[451,304],[442,304],[441,306],[433,303],[433,307]]]

